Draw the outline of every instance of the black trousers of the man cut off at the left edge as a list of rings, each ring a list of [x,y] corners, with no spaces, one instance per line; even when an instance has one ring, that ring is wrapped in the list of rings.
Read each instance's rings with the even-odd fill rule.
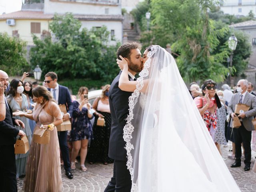
[[[18,191],[14,145],[0,145],[0,191]]]

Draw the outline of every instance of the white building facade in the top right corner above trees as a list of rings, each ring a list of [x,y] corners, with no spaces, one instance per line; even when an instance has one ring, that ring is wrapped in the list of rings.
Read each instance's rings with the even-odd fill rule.
[[[256,0],[221,0],[224,14],[247,16],[250,10],[256,15]]]

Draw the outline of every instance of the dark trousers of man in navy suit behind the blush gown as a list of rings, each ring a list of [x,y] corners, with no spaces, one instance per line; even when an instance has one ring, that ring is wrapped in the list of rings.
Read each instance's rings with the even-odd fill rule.
[[[70,172],[70,159],[68,154],[68,131],[58,131],[60,151],[64,162],[65,171]]]

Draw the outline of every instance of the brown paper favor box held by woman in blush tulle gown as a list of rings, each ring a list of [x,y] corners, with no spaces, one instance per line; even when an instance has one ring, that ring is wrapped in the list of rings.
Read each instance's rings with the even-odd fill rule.
[[[33,141],[39,144],[49,144],[50,131],[46,129],[40,129],[39,126],[36,126],[33,134]]]

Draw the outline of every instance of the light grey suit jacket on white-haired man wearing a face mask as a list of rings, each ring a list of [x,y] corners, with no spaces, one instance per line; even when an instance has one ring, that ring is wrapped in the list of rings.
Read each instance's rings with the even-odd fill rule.
[[[232,96],[230,103],[228,104],[228,110],[227,110],[228,114],[234,113],[236,104],[239,103],[239,99],[240,99],[240,93],[235,93]],[[242,119],[243,125],[246,128],[246,130],[253,131],[254,126],[252,124],[252,120],[253,120],[253,116],[256,115],[256,97],[250,94],[249,92],[246,92],[244,96],[243,104],[250,106],[250,109],[244,112],[246,117]],[[233,122],[233,119],[231,118],[230,123],[232,124],[232,122]]]

